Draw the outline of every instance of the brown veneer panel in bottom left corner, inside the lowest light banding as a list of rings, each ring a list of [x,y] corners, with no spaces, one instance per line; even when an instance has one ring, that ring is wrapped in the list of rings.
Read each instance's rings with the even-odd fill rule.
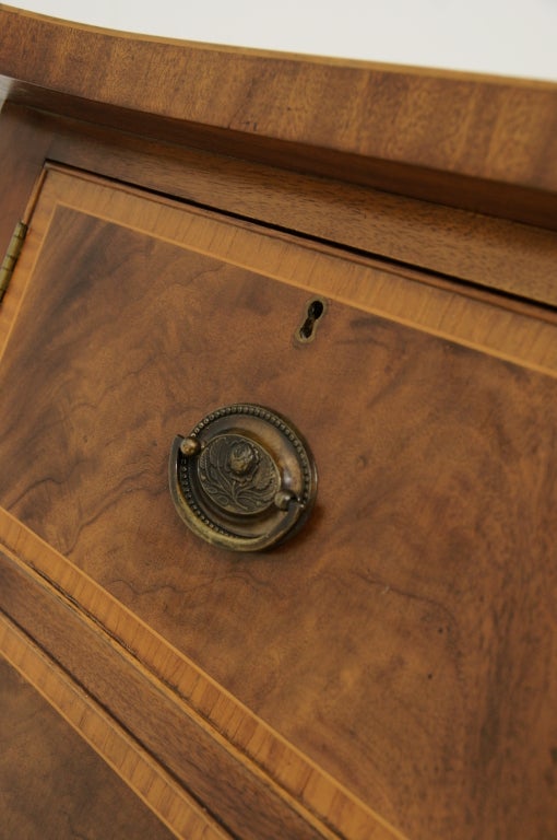
[[[4,626],[0,626],[0,633]],[[174,837],[40,695],[0,660],[0,833],[5,840]]]

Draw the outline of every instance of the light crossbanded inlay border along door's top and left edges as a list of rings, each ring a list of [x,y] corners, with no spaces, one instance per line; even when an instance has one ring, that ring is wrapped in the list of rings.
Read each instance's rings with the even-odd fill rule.
[[[122,207],[117,201],[119,192],[126,197]],[[12,292],[5,299],[4,317],[0,318],[0,345],[3,339],[4,347],[57,206],[156,235],[162,242],[223,259],[308,293],[322,294],[505,361],[557,375],[556,320],[552,312],[489,300],[488,293],[471,296],[465,290],[424,282],[427,277],[418,277],[417,272],[414,276],[411,270],[378,266],[364,257],[339,254],[316,243],[300,243],[292,235],[261,231],[254,224],[218,218],[131,187],[60,168],[52,168],[45,180],[14,272]],[[143,215],[139,225],[135,215],[140,208]],[[0,357],[1,353],[0,347]]]

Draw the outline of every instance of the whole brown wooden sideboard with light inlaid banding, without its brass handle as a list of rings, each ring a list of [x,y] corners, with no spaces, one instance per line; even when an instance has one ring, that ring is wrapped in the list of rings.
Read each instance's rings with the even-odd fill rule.
[[[0,73],[2,837],[554,838],[557,88],[1,4]],[[269,551],[168,489],[237,404]]]

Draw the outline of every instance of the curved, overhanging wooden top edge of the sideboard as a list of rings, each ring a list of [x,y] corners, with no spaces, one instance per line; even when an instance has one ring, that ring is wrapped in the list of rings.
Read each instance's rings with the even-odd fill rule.
[[[555,223],[554,84],[127,36],[3,4],[0,74],[12,100],[90,122]]]

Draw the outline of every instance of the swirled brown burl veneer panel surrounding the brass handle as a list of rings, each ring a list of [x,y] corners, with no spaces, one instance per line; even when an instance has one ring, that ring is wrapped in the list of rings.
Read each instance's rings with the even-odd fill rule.
[[[238,234],[240,235],[240,234]],[[557,830],[557,386],[58,208],[8,345],[0,502],[412,838]],[[183,528],[167,456],[209,410],[309,440],[294,541]]]

